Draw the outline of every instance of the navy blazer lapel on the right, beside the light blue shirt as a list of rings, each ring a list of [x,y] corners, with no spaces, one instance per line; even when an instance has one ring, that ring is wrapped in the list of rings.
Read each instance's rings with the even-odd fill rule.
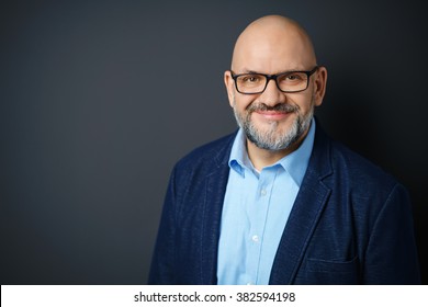
[[[313,154],[277,251],[270,284],[292,284],[294,281],[307,243],[331,192],[323,183],[323,179],[331,173],[329,161],[329,141],[317,125]]]

